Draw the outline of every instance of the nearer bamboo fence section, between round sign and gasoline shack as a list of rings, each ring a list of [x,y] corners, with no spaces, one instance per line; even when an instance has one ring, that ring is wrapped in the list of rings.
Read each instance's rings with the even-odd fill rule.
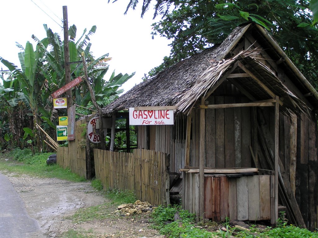
[[[165,153],[143,149],[135,149],[133,153],[94,149],[94,163],[96,178],[102,181],[104,189],[131,190],[142,201],[153,205],[169,204],[169,163]]]

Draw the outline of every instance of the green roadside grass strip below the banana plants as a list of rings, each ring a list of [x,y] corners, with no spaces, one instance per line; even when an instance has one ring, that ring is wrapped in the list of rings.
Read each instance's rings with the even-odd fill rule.
[[[85,178],[72,173],[70,169],[63,169],[57,164],[47,165],[46,160],[52,153],[32,154],[30,149],[14,149],[4,155],[7,161],[0,160],[0,170],[28,174],[42,178],[60,178],[64,180],[82,182]]]

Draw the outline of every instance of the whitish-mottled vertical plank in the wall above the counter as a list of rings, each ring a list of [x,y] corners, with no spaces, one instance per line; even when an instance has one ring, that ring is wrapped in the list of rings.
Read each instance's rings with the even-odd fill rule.
[[[236,102],[240,102],[240,98],[235,98]],[[241,108],[234,108],[234,158],[235,167],[242,167],[242,118],[241,118]]]

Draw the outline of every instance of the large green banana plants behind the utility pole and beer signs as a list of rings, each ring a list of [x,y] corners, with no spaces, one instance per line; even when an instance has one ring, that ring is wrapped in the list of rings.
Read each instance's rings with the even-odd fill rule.
[[[10,145],[21,148],[30,144],[36,145],[38,150],[44,148],[43,138],[35,128],[40,124],[53,138],[58,116],[66,115],[66,110],[55,110],[52,107],[52,92],[65,85],[64,43],[59,34],[53,33],[44,25],[46,38],[40,40],[32,35],[36,42],[35,49],[30,42],[25,47],[17,44],[21,49],[19,61],[21,68],[0,57],[0,62],[9,69],[1,74],[3,85],[0,84],[0,148]],[[122,92],[120,86],[131,78],[133,74],[113,74],[108,81],[104,76],[108,71],[108,54],[94,58],[90,52],[92,43],[90,36],[96,31],[93,26],[86,29],[76,40],[76,26],[69,29],[70,62],[81,61],[81,53],[85,52],[89,81],[93,85],[97,103],[103,107],[114,100]],[[71,78],[83,76],[83,64],[71,64]],[[90,93],[85,83],[73,90],[73,103],[82,108],[77,112],[89,114],[85,108],[93,109]],[[84,109],[83,109],[84,108]]]

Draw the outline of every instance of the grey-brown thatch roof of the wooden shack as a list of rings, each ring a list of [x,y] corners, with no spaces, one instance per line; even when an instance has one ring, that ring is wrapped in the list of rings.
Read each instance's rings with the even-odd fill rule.
[[[188,113],[199,98],[206,94],[211,87],[218,85],[221,76],[238,61],[252,65],[250,67],[252,73],[262,79],[268,88],[276,95],[288,98],[286,104],[284,101],[285,110],[294,111],[296,108],[296,110],[306,111],[304,103],[291,93],[269,68],[255,58],[255,54],[259,50],[240,52],[225,60],[225,57],[229,55],[249,27],[251,24],[237,27],[221,45],[211,47],[182,60],[153,78],[136,85],[103,108],[103,116],[110,116],[113,111],[142,106],[177,106],[177,112]],[[266,37],[269,36],[266,35]],[[296,70],[294,74],[298,74],[298,72]],[[303,81],[301,76],[298,79]],[[257,100],[269,98],[268,94],[264,93],[264,90],[253,83],[251,79],[242,78],[241,84],[245,83],[249,85],[245,89],[253,94]],[[308,92],[312,90],[308,89],[307,86],[304,88]]]

